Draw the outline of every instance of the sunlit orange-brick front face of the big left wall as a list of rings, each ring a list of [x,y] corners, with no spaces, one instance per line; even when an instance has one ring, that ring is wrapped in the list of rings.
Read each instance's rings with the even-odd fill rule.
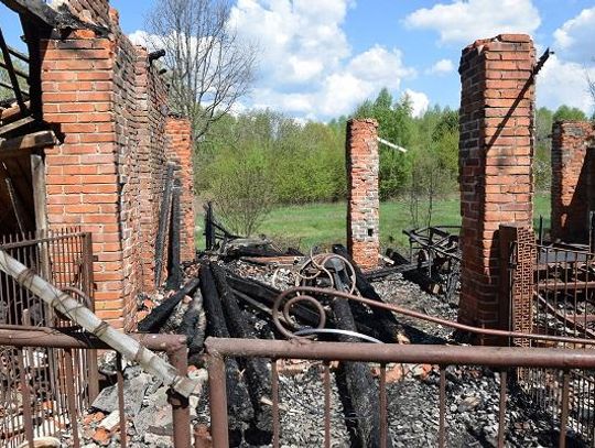
[[[93,232],[95,309],[123,326],[113,41],[90,30],[41,43],[43,118],[64,138],[45,151],[51,228]]]

